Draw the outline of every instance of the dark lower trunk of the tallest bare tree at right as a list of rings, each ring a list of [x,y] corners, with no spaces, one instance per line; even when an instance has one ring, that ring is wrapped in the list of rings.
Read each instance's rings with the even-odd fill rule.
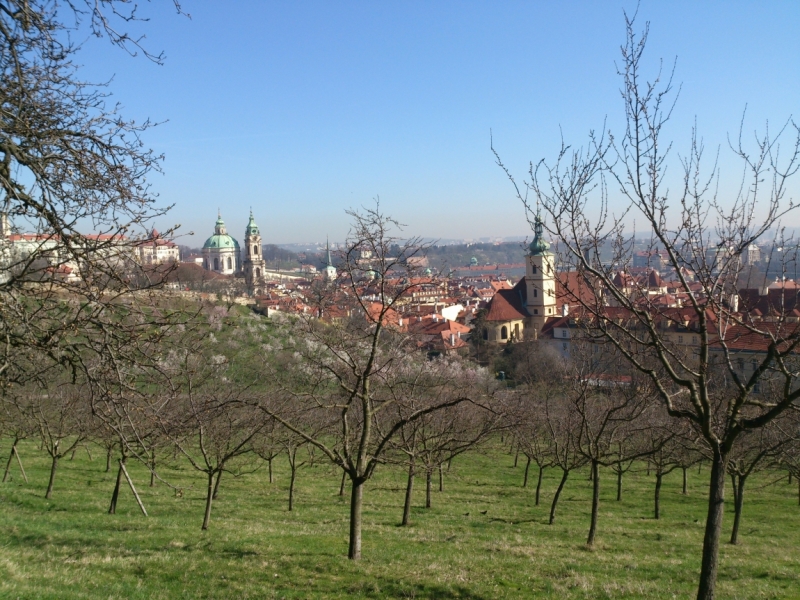
[[[714,600],[719,566],[719,538],[722,533],[722,516],[725,512],[725,470],[728,457],[715,449],[711,460],[711,480],[708,488],[708,515],[703,536],[703,559],[700,566],[700,584],[697,600]]]

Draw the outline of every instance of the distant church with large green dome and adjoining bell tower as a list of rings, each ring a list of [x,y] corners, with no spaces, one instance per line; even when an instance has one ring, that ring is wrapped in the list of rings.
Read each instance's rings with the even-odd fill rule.
[[[244,249],[225,227],[222,215],[217,214],[214,235],[203,244],[203,268],[222,275],[243,274],[251,294],[261,294],[266,271],[261,247],[261,232],[250,211],[244,230]]]

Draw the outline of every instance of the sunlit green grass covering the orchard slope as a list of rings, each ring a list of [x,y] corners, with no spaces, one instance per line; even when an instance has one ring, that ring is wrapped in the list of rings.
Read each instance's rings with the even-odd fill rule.
[[[628,475],[616,502],[613,474],[603,472],[593,549],[584,545],[585,472],[571,477],[548,526],[555,471],[545,472],[536,507],[507,454],[460,457],[429,510],[418,480],[413,524],[403,528],[404,475],[385,468],[367,484],[364,558],[351,562],[348,505],[327,465],[300,472],[293,513],[285,460],[273,484],[266,469],[223,478],[203,532],[204,481],[185,465],[163,473],[184,487],[177,498],[131,465],[150,516],[127,488],[110,516],[115,473],[103,472],[97,450],[94,461],[84,451],[62,461],[52,501],[43,498],[46,457],[33,444],[21,451],[30,483],[15,469],[0,485],[1,598],[687,598],[699,572],[707,468],[692,470],[688,496],[680,472],[665,479],[660,521],[651,516],[653,477]],[[785,480],[765,487],[774,477],[748,483],[740,544],[722,548],[720,598],[800,597],[797,489]]]

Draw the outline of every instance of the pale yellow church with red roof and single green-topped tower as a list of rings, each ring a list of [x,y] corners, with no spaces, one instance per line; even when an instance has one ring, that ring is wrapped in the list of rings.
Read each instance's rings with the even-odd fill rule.
[[[567,294],[556,275],[555,255],[543,230],[537,214],[525,277],[510,290],[499,290],[489,302],[482,332],[485,340],[497,344],[534,340],[549,319],[569,314]]]

